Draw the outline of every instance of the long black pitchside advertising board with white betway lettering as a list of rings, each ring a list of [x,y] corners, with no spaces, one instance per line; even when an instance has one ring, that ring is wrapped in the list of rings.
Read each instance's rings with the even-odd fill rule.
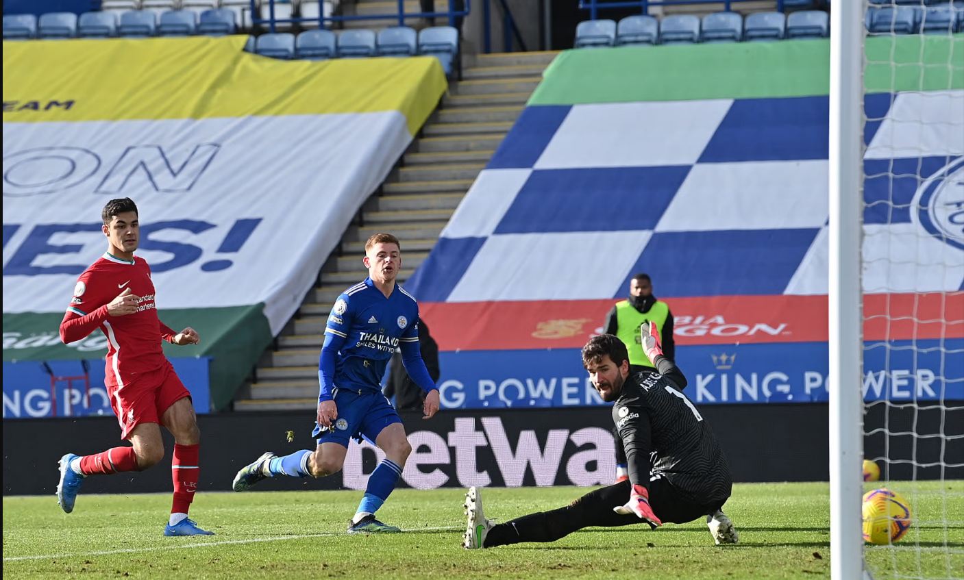
[[[467,488],[469,486],[595,486],[615,476],[611,409],[474,409],[442,411],[424,421],[421,413],[403,411],[412,443],[400,487]],[[767,419],[761,421],[761,412]],[[826,405],[773,404],[764,411],[746,405],[714,405],[700,409],[726,451],[736,482],[826,481],[828,477]],[[198,419],[204,445],[218,450],[201,465],[201,492],[228,491],[238,469],[265,449],[287,455],[314,446],[313,411],[218,413]],[[947,409],[906,406],[868,409],[868,432],[913,430],[921,435],[959,435],[964,426],[952,422]],[[85,421],[40,418],[4,421],[4,494],[52,494],[50,458],[64,454],[65,441],[79,441],[75,453],[117,444],[117,421],[92,417]],[[289,439],[287,432],[293,432]],[[822,438],[822,443],[821,443]],[[31,445],[20,444],[30,440]],[[886,447],[885,447],[886,446]],[[949,446],[946,437],[870,435],[869,457],[892,461],[891,479],[946,479],[946,466],[964,462],[964,447]],[[886,452],[885,452],[886,449]],[[162,461],[170,461],[168,457]],[[339,489],[362,490],[380,452],[352,441],[344,466],[322,478],[272,478],[252,491]],[[47,465],[48,467],[44,467]],[[928,467],[927,465],[932,465]],[[130,478],[91,478],[85,493],[171,492],[171,475],[148,469]],[[574,491],[576,499],[584,491]],[[454,513],[454,512],[453,512]],[[520,512],[522,513],[522,512]]]

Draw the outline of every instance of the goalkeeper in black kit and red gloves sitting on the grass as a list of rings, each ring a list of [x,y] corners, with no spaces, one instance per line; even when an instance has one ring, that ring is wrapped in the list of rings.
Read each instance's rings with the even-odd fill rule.
[[[582,528],[643,521],[656,529],[701,517],[717,544],[736,543],[733,522],[722,511],[733,488],[726,457],[683,395],[686,378],[662,355],[656,330],[654,323],[641,330],[643,349],[656,368],[631,376],[626,345],[616,336],[594,336],[582,348],[590,381],[603,401],[614,402],[612,419],[626,446],[629,480],[591,491],[563,508],[497,525],[482,511],[481,489],[469,488],[465,547],[554,541]]]

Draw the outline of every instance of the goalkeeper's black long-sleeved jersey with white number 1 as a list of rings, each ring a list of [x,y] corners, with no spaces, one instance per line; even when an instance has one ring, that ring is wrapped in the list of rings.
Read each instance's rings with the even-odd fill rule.
[[[612,408],[626,447],[629,481],[649,487],[665,478],[697,503],[722,503],[733,488],[730,468],[710,425],[683,395],[686,379],[669,359],[629,376]]]

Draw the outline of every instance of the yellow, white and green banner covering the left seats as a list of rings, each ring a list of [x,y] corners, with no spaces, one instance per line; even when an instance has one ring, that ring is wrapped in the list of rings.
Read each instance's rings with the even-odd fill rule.
[[[60,344],[100,210],[133,198],[161,320],[194,327],[224,408],[435,108],[432,58],[285,62],[245,37],[5,42],[4,360]]]

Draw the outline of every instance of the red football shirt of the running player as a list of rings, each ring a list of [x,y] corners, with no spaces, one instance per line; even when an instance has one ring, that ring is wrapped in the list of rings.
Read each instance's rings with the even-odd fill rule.
[[[126,316],[111,316],[107,304],[124,289],[139,297],[138,311]],[[160,368],[165,363],[161,340],[170,341],[174,331],[157,318],[154,284],[144,258],[133,261],[105,253],[77,278],[73,299],[61,323],[65,343],[80,340],[95,329],[107,336],[105,382],[124,386],[138,375]]]

